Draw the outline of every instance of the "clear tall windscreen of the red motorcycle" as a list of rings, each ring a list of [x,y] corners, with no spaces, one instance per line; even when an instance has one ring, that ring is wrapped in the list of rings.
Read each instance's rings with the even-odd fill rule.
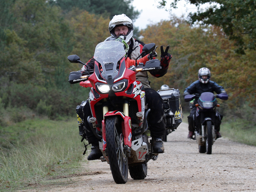
[[[105,41],[96,46],[93,58],[101,64],[104,79],[110,76],[114,79],[118,75],[117,63],[125,54],[122,43],[118,41]]]

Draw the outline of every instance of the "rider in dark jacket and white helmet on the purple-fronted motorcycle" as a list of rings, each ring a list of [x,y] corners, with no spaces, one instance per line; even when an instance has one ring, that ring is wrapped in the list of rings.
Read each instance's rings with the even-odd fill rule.
[[[199,94],[201,95],[203,92],[216,92],[217,94],[220,93],[226,93],[226,91],[224,90],[224,88],[220,85],[218,85],[216,82],[210,81],[211,78],[211,72],[208,68],[206,67],[202,67],[201,69],[198,70],[198,80],[193,82],[191,85],[189,85],[184,93],[183,93],[183,97],[185,95],[188,94]],[[189,135],[188,138],[192,139],[194,132],[195,132],[195,127],[193,125],[193,119],[195,119],[195,113],[196,113],[196,107],[195,104],[197,103],[197,100],[193,101],[193,105],[192,105],[192,110],[188,116],[188,123],[189,123]],[[216,138],[220,138],[221,134],[220,134],[220,123],[221,123],[221,119],[223,118],[223,116],[216,111],[216,116],[218,118],[216,125],[215,125],[215,131],[216,131]]]

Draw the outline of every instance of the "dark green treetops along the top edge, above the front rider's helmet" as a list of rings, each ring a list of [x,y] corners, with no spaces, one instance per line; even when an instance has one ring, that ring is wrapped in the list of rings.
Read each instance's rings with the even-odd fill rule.
[[[72,8],[86,10],[91,14],[103,14],[108,18],[114,15],[126,14],[132,20],[139,16],[139,11],[136,11],[131,4],[133,0],[98,0],[97,3],[92,0],[56,0],[51,1],[51,4],[56,4],[64,11],[71,11]]]

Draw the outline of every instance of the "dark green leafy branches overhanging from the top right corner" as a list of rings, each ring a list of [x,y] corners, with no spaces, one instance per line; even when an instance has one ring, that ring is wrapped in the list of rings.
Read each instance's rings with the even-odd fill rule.
[[[176,8],[177,2],[170,3],[170,8]],[[256,48],[256,1],[255,0],[186,0],[198,7],[197,12],[189,14],[191,24],[201,21],[223,28],[230,40],[235,42],[236,52],[245,54],[247,48]],[[199,9],[209,3],[206,10]],[[159,7],[167,6],[167,1],[161,0]]]

